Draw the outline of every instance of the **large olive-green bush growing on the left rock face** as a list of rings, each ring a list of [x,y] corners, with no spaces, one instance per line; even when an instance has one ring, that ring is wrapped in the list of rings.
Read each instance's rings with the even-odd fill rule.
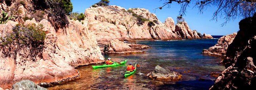
[[[29,57],[31,60],[35,61],[36,56],[41,54],[44,49],[44,40],[46,33],[43,30],[43,25],[30,24],[22,25],[17,24],[13,27],[13,32],[6,34],[6,36],[1,37],[0,48],[3,49],[3,54],[5,56],[16,56],[18,51],[24,50],[29,52]],[[18,48],[15,48],[18,46]]]

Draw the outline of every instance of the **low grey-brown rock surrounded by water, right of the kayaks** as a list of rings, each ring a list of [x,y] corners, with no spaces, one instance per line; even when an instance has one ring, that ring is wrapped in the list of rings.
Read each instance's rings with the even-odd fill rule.
[[[181,74],[170,71],[169,69],[164,69],[161,66],[156,66],[155,70],[152,72],[149,72],[147,74],[149,78],[156,78],[156,79],[172,79],[172,80],[181,80]]]

